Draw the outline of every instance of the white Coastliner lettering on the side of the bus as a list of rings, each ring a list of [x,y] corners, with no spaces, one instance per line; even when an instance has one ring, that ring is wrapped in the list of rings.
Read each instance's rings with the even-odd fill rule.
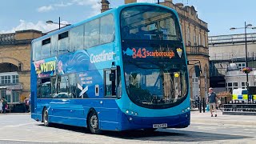
[[[114,54],[114,51],[106,53],[105,50],[103,50],[101,54],[90,54],[90,63],[111,61],[114,59]]]

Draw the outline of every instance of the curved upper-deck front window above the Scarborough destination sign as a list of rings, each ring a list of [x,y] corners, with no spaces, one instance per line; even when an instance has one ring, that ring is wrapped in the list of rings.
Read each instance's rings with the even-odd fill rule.
[[[121,12],[122,39],[181,40],[178,19],[158,6],[129,6]]]

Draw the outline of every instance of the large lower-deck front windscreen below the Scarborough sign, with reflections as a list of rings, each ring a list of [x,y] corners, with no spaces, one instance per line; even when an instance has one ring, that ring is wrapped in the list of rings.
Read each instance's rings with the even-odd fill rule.
[[[125,66],[130,99],[144,107],[162,108],[186,96],[186,66],[129,63]]]

